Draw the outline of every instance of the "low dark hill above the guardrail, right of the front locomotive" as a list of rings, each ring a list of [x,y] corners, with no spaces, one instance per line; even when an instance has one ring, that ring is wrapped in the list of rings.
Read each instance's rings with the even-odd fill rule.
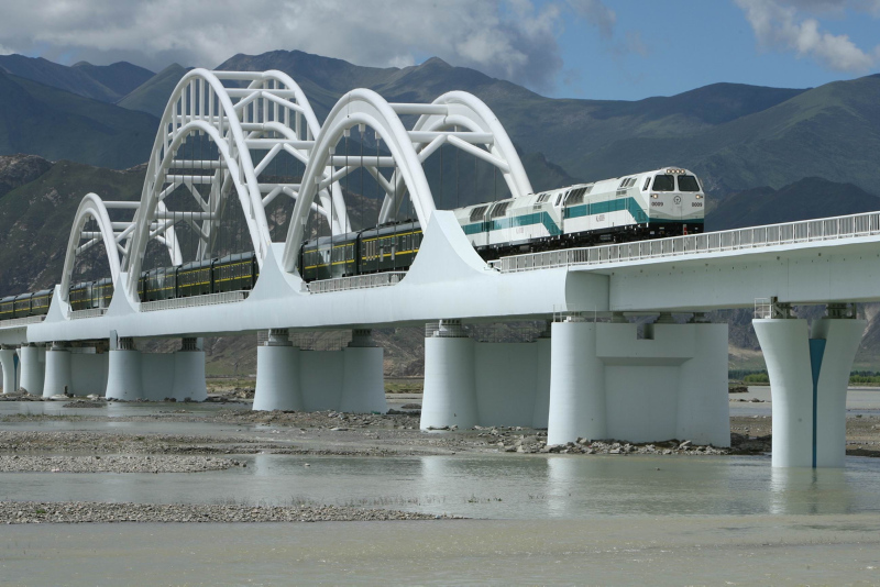
[[[880,198],[858,186],[806,177],[778,190],[755,188],[725,198],[706,214],[706,230],[723,231],[875,210],[880,210]]]

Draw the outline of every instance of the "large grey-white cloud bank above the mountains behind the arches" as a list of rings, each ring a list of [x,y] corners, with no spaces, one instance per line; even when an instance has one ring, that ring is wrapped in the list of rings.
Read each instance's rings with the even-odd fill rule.
[[[572,13],[607,38],[616,22],[601,0],[10,0],[2,12],[0,44],[56,60],[215,67],[296,48],[400,67],[436,55],[535,89],[561,71]]]

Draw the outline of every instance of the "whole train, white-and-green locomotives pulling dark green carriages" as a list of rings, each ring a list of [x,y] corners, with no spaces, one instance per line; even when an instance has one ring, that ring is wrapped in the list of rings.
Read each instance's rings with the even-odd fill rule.
[[[629,242],[703,232],[705,189],[681,167],[529,193],[453,210],[474,250],[486,261],[506,255]],[[383,272],[405,272],[422,241],[417,221],[407,220],[302,243],[305,281]],[[260,277],[253,252],[143,272],[141,301],[223,291],[248,291]],[[0,299],[0,320],[48,312],[52,290]],[[107,308],[110,279],[70,288],[73,310]]]

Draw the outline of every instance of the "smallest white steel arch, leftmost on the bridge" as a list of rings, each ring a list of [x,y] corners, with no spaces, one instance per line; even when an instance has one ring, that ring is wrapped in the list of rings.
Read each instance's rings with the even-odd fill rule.
[[[67,241],[67,254],[64,257],[64,272],[62,273],[61,295],[63,301],[68,301],[70,294],[70,280],[74,275],[74,267],[76,265],[76,257],[92,246],[103,243],[107,250],[107,259],[110,263],[110,278],[113,285],[117,285],[121,267],[121,253],[124,248],[120,245],[120,241],[125,240],[128,236],[122,233],[113,231],[113,223],[110,221],[110,214],[107,212],[107,204],[110,207],[127,208],[131,203],[136,202],[105,202],[95,193],[87,193],[74,217],[74,225],[70,228],[70,237]],[[121,204],[121,206],[120,206]],[[82,229],[89,219],[95,219],[98,224],[97,232],[86,232]],[[82,240],[87,242],[80,244]]]

